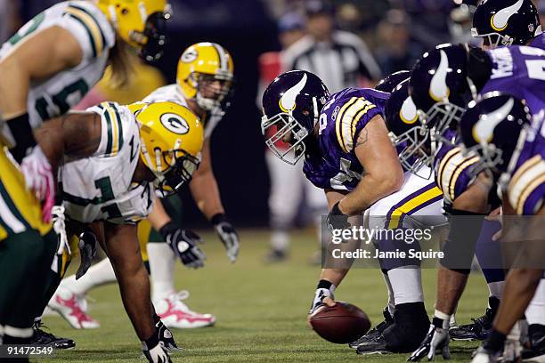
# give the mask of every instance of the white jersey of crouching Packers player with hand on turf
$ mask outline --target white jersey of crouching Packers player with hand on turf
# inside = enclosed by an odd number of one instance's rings
[[[102,102],[87,111],[101,115],[102,137],[91,157],[62,165],[63,206],[79,222],[138,222],[155,199],[151,182],[134,183],[140,158],[140,128],[125,106]]]

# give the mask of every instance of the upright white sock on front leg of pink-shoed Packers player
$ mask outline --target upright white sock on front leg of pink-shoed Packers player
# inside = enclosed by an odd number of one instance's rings
[[[166,243],[148,243],[152,298],[157,302],[175,293],[174,270],[176,256]]]

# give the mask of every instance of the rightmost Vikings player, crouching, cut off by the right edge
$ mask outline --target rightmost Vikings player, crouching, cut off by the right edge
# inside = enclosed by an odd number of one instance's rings
[[[516,233],[517,239],[503,240],[504,249],[511,253],[513,248],[517,249],[517,254],[506,256],[506,259],[514,260],[515,255],[523,255],[524,260],[522,263],[518,261],[509,270],[492,333],[476,351],[473,362],[496,362],[513,358],[508,355],[509,351],[504,351],[506,336],[525,314],[543,276],[543,115],[545,109],[541,109],[531,124],[532,117],[525,103],[507,93],[494,92],[484,94],[482,100],[473,103],[460,121],[462,141],[469,152],[479,157],[479,169],[494,174],[499,180],[498,192],[503,200],[504,215],[536,216],[529,222],[523,218],[516,222],[504,222],[504,236],[514,230],[513,223],[518,224],[517,228],[524,229],[522,233]],[[513,243],[516,246],[508,246]],[[541,304],[541,315],[542,309]],[[525,351],[523,359],[541,361],[545,358],[542,333],[542,330],[530,332],[532,349]]]

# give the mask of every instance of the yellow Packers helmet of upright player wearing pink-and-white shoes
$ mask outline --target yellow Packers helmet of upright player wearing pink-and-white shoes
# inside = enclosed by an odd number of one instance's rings
[[[183,51],[176,82],[186,100],[195,99],[201,109],[224,108],[232,89],[232,56],[216,43],[197,43]]]

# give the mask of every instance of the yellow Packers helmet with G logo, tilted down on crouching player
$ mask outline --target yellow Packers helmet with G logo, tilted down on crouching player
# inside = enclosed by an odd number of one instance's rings
[[[190,109],[174,102],[129,107],[140,125],[140,157],[155,174],[156,189],[166,196],[191,181],[199,167],[202,124]]]

